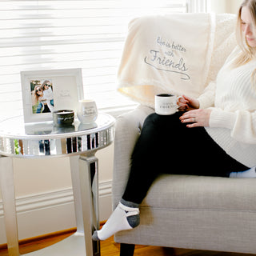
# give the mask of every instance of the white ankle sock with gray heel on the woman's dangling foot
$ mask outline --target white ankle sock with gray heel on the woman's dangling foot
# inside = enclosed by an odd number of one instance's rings
[[[138,224],[138,208],[128,207],[119,202],[102,229],[94,231],[93,240],[105,240],[118,231],[131,230]]]

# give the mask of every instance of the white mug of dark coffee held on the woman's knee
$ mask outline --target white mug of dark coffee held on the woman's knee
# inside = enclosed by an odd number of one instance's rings
[[[174,114],[178,110],[178,98],[174,94],[157,94],[154,96],[154,110],[156,114]]]

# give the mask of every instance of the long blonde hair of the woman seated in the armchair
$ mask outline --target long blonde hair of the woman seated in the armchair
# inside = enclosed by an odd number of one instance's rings
[[[237,30],[236,30],[236,37],[238,41],[238,45],[242,49],[242,53],[238,55],[238,58],[234,61],[234,67],[242,66],[253,58],[256,58],[256,47],[251,47],[248,45],[246,41],[245,34],[242,32],[242,7],[247,6],[250,10],[251,17],[253,18],[253,29],[254,34],[256,35],[256,0],[245,0],[242,2],[239,10],[238,10],[238,20],[237,20]],[[256,89],[256,69],[251,74],[251,83]]]

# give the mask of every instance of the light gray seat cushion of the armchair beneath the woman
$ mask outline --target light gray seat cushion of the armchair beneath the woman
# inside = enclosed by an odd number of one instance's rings
[[[256,210],[254,178],[159,176],[143,206],[162,209]]]

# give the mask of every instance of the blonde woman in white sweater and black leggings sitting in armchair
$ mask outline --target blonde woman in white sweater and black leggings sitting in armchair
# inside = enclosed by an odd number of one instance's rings
[[[158,174],[256,178],[255,27],[256,0],[246,0],[238,13],[239,46],[218,73],[214,107],[200,109],[198,99],[183,95],[183,111],[146,118],[121,202],[94,240],[138,226],[138,206]]]

